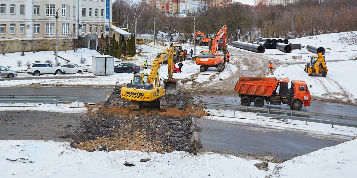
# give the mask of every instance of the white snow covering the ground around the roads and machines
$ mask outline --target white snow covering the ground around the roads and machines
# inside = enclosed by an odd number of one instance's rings
[[[356,78],[352,72],[357,67],[356,61],[350,57],[357,53],[357,32],[332,33],[313,37],[292,39],[291,43],[301,43],[302,46],[325,47],[325,57],[327,60],[327,77],[308,76],[303,71],[303,66],[309,61],[311,52],[306,48],[293,50],[292,53],[283,53],[277,49],[266,49],[262,55],[284,62],[275,69],[272,75],[267,77],[288,77],[289,79],[304,80],[308,85],[312,85],[310,91],[312,98],[336,99],[346,102],[357,103]],[[327,43],[328,48],[327,49]],[[158,53],[164,47],[156,45],[139,45],[142,52]],[[190,51],[193,46],[184,44],[183,48]],[[228,46],[229,49],[234,47]],[[198,54],[205,46],[197,46]],[[234,48],[236,50],[241,50]],[[241,50],[246,52],[245,50]],[[143,57],[137,57],[140,65],[143,60],[154,61],[155,54],[143,53]],[[252,55],[260,55],[251,53]],[[80,64],[80,58],[86,58],[84,66],[90,67],[91,56],[99,55],[95,50],[81,49],[78,53],[67,51],[60,52],[59,56],[69,59],[71,62]],[[190,54],[188,54],[190,55]],[[239,55],[231,53],[231,56]],[[302,56],[300,59],[292,59],[292,56]],[[252,56],[253,57],[253,56]],[[28,52],[25,56],[20,53],[9,53],[0,56],[1,66],[12,66],[13,70],[26,70],[27,62],[34,62],[41,59],[44,61],[50,58],[54,61],[53,52]],[[22,66],[17,67],[17,60],[22,61]],[[40,61],[41,61],[40,60]],[[62,60],[62,59],[59,59]],[[329,62],[331,61],[331,62]],[[333,62],[337,61],[337,62]],[[64,60],[60,63],[65,63]],[[151,63],[151,60],[150,60]],[[244,66],[242,66],[244,67]],[[217,77],[212,83],[220,79],[231,77],[231,74],[242,68],[233,64],[228,64],[223,72],[217,74],[215,70],[208,70],[195,76],[197,81],[206,81],[212,74]],[[149,69],[144,73],[149,73]],[[190,78],[197,74],[199,66],[191,61],[183,62],[182,73],[174,73],[174,78]],[[160,77],[166,76],[167,66],[160,68]],[[27,74],[19,74],[25,76]],[[31,79],[31,80],[1,80],[1,87],[26,86],[31,84],[50,84],[63,86],[96,85],[114,86],[130,82],[133,74],[115,73],[112,76],[97,76],[93,74],[75,74],[93,78],[78,79]],[[28,75],[29,77],[32,77]],[[44,75],[54,77],[54,75]],[[40,77],[44,77],[40,76]],[[73,76],[73,75],[71,75]],[[193,83],[187,82],[186,84]],[[210,79],[211,80],[211,79]],[[41,110],[55,112],[81,112],[87,111],[84,105],[72,103],[71,105],[59,104],[54,107],[52,104],[2,104],[1,110]],[[214,110],[215,115],[230,116],[231,111]],[[237,112],[236,112],[237,114]],[[259,117],[253,113],[240,113],[240,118],[230,118],[221,116],[206,116],[206,119],[214,119],[225,122],[244,122],[248,124],[264,125],[275,129],[288,129],[304,131],[311,136],[321,138],[335,138],[350,140],[357,135],[356,128],[334,126],[325,124],[305,125],[301,121],[282,122],[279,120]],[[234,116],[233,116],[234,117]],[[1,118],[0,118],[1,123]],[[113,151],[113,152],[87,152],[71,148],[69,143],[54,141],[31,141],[31,140],[0,140],[0,177],[97,177],[97,176],[118,176],[121,177],[259,177],[275,175],[284,178],[290,177],[356,177],[357,141],[351,140],[333,147],[322,148],[320,150],[298,156],[281,164],[268,163],[269,171],[261,171],[254,166],[261,163],[258,160],[246,160],[232,155],[219,155],[216,153],[201,152],[198,155],[191,155],[187,152],[175,151],[172,153],[159,154],[152,152],[138,151]],[[140,162],[142,158],[150,158],[148,162]],[[133,167],[126,167],[125,163],[135,164]],[[274,169],[277,166],[281,167]],[[20,169],[19,169],[20,168]],[[302,171],[303,170],[303,171]],[[275,173],[275,174],[274,174]]]

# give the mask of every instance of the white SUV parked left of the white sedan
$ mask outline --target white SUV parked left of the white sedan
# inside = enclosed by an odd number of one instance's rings
[[[55,67],[49,63],[32,63],[27,67],[27,73],[35,76],[41,74],[63,74],[64,70],[62,67]]]

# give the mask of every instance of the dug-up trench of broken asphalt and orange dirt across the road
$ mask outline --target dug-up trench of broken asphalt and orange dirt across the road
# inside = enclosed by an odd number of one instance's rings
[[[159,103],[140,104],[139,111],[132,111],[131,102],[118,93],[114,92],[98,109],[87,105],[91,112],[74,133],[72,147],[87,151],[197,152],[199,146],[192,139],[191,119],[205,112],[190,104],[192,97],[166,95],[165,112],[159,111]]]

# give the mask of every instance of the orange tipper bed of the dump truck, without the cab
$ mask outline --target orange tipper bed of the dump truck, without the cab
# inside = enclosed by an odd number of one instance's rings
[[[289,79],[273,77],[240,77],[234,90],[242,95],[270,97],[279,83],[289,83]]]

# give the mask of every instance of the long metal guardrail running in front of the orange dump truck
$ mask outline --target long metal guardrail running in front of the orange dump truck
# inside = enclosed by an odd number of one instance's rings
[[[295,119],[295,120],[299,120],[299,119],[303,118],[303,119],[305,119],[304,121],[309,121],[309,122],[311,122],[310,120],[315,120],[315,121],[318,121],[319,123],[323,123],[323,122],[321,122],[322,121],[321,119],[309,118],[309,117],[300,117],[300,116],[302,115],[302,116],[315,116],[315,117],[331,118],[333,123],[337,123],[338,122],[340,124],[347,124],[347,123],[341,122],[342,120],[356,121],[357,122],[357,118],[356,117],[333,115],[333,114],[324,114],[324,113],[318,113],[318,112],[287,110],[287,109],[277,109],[277,108],[262,108],[262,107],[257,107],[257,106],[242,106],[242,105],[222,104],[222,103],[203,103],[203,106],[219,106],[219,107],[223,107],[225,110],[227,110],[227,108],[235,108],[235,109],[245,110],[246,112],[248,110],[253,110],[253,111],[257,111],[257,112],[265,111],[265,112],[268,112],[267,114],[270,114],[271,117],[275,117],[275,116],[280,116],[281,117],[281,116],[283,116],[283,117],[288,117],[288,119],[292,119],[292,120],[294,120],[294,118],[298,118],[298,119]],[[279,113],[279,114],[271,114],[270,112],[275,112],[275,113]],[[265,114],[265,113],[259,113],[259,114]],[[300,116],[297,116],[297,115],[300,115]],[[338,120],[338,121],[336,121],[336,120]],[[323,120],[323,121],[326,121],[328,124],[332,124],[332,122],[329,121],[329,120]],[[325,124],[327,124],[327,123],[325,123]],[[332,124],[332,125],[338,125],[338,124]],[[353,124],[348,124],[348,125],[351,126]],[[346,126],[346,125],[343,125],[343,126]],[[351,127],[353,127],[353,126],[351,126]]]

